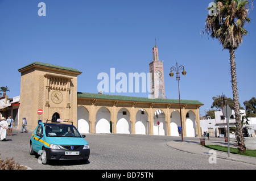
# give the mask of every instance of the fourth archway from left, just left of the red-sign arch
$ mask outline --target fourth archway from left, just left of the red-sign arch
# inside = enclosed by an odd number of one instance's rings
[[[149,123],[148,123],[147,112],[140,109],[136,114],[135,123],[135,134],[148,134],[149,133]]]

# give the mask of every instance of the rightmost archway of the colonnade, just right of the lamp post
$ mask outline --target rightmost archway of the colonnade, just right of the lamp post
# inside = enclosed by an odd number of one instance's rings
[[[196,116],[193,111],[188,111],[186,115],[187,137],[196,137]]]

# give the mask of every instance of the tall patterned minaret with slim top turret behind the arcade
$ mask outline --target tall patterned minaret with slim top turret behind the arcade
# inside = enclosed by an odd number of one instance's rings
[[[150,73],[151,79],[151,98],[165,99],[166,94],[164,91],[164,71],[163,71],[163,61],[159,61],[158,58],[158,47],[155,46],[153,49],[153,61],[150,62]]]

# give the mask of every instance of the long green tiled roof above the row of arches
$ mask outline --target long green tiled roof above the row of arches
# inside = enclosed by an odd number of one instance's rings
[[[94,94],[86,92],[77,92],[77,98],[93,98],[93,99],[108,99],[108,100],[126,100],[132,102],[150,102],[150,103],[174,103],[179,104],[179,99],[149,99],[133,96],[109,95],[109,94]],[[180,100],[181,104],[197,104],[203,106],[199,100]]]

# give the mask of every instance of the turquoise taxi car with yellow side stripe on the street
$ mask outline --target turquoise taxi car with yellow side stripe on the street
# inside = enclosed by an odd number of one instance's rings
[[[51,160],[75,160],[87,162],[90,155],[88,142],[72,122],[39,123],[30,138],[30,154],[39,154],[43,164]]]

